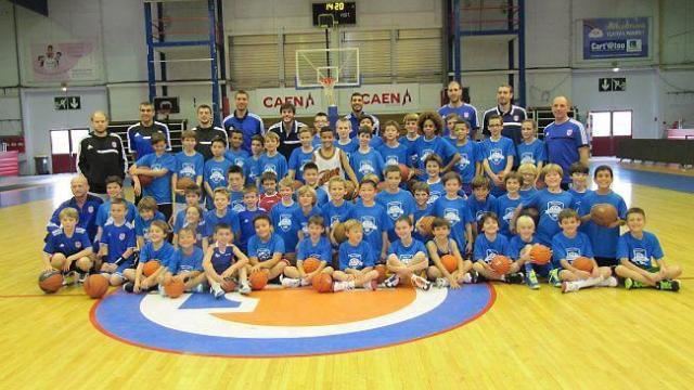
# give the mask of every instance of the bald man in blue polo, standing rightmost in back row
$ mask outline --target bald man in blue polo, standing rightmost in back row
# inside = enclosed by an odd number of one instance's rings
[[[581,161],[588,166],[590,144],[583,125],[568,117],[570,102],[566,96],[556,96],[552,101],[554,121],[544,128],[544,144],[550,164],[557,164],[564,170],[562,188],[568,190],[571,178],[568,168]]]

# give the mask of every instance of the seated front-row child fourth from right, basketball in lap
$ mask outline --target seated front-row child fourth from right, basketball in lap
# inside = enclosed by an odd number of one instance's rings
[[[512,284],[523,283],[524,275],[518,272],[522,265],[518,261],[512,262],[509,271],[503,274],[491,266],[494,257],[507,257],[511,253],[509,239],[499,234],[499,218],[497,214],[486,212],[481,217],[479,225],[483,234],[479,234],[475,239],[473,270],[489,281],[502,281]]]

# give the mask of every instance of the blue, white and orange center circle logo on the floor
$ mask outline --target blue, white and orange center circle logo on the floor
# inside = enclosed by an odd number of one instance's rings
[[[266,289],[215,299],[117,291],[97,302],[91,321],[118,340],[158,351],[215,356],[297,356],[382,348],[437,335],[483,315],[496,295],[487,284],[461,289],[394,288],[318,294]]]

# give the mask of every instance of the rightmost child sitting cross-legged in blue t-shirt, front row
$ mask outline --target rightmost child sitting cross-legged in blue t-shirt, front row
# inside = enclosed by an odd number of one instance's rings
[[[619,265],[615,273],[625,278],[627,289],[653,287],[659,290],[678,291],[682,274],[679,265],[667,265],[658,237],[643,227],[646,214],[643,209],[632,207],[627,211],[629,231],[617,242]],[[657,265],[653,265],[653,261]]]

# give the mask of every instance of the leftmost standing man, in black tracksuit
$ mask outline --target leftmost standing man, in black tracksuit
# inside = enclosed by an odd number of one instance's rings
[[[91,115],[93,131],[79,142],[77,150],[77,171],[89,182],[93,194],[106,199],[106,178],[126,178],[128,159],[123,150],[123,141],[116,134],[108,134],[108,117],[98,110]]]

